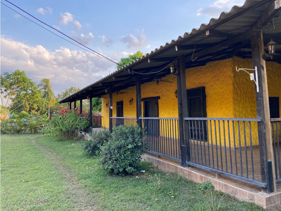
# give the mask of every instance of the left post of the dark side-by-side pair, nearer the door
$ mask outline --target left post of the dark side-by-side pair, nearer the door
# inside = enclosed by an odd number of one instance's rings
[[[179,113],[179,142],[180,145],[183,146],[184,145],[184,127],[183,127],[183,121],[184,121],[184,117],[183,117],[183,100],[182,97],[183,95],[182,93],[182,86],[181,86],[181,71],[180,71],[180,64],[179,62],[177,62],[177,71],[178,71],[178,75],[177,75],[177,88],[178,88],[178,113]],[[185,158],[183,157],[183,147],[180,147],[181,149],[181,166],[186,167],[186,161]]]

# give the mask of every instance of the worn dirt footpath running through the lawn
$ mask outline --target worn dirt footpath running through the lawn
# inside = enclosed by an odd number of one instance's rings
[[[47,155],[47,157],[55,164],[57,165],[60,174],[62,175],[63,179],[67,181],[68,189],[69,189],[69,195],[71,197],[68,198],[72,204],[78,204],[79,209],[83,211],[90,211],[90,210],[99,210],[96,206],[95,200],[91,197],[90,192],[86,191],[82,185],[79,184],[79,181],[75,178],[75,175],[72,174],[67,167],[63,165],[63,160],[55,154],[53,151],[45,147],[44,145],[41,145],[37,142],[36,138],[31,138],[30,143],[35,145],[42,151],[44,154]],[[45,203],[42,200],[38,200],[38,204]]]

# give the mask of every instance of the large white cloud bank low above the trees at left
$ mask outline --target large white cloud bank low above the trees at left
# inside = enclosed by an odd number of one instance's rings
[[[70,85],[85,87],[116,67],[89,52],[71,51],[65,47],[52,52],[41,45],[26,45],[5,36],[1,36],[0,56],[1,72],[24,70],[36,82],[51,78],[56,93]]]

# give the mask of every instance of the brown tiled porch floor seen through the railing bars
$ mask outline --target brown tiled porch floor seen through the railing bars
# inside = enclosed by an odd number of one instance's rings
[[[180,159],[180,144],[178,139],[166,137],[148,136],[147,141],[151,143],[151,151],[166,154]],[[222,170],[238,176],[261,181],[259,147],[230,149],[228,147],[220,149],[220,146],[212,145],[202,141],[191,141],[191,162]],[[276,145],[277,148],[277,145]],[[281,151],[281,144],[280,144]],[[247,156],[246,156],[247,154]],[[230,159],[231,158],[231,159]],[[246,159],[247,158],[247,159]],[[279,175],[279,168],[277,169]]]

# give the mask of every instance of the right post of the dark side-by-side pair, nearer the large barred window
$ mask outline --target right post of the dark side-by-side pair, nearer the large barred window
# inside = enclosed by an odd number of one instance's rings
[[[181,72],[181,99],[183,104],[183,118],[188,117],[188,104],[187,104],[187,89],[186,89],[186,78],[185,78],[185,57],[180,57],[180,72]],[[189,142],[189,128],[188,122],[183,119],[183,131],[184,131],[184,145],[185,145],[185,160],[190,161],[190,142]]]

